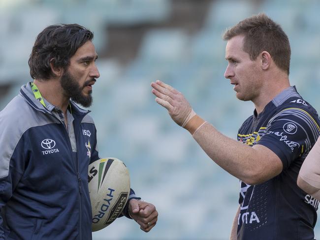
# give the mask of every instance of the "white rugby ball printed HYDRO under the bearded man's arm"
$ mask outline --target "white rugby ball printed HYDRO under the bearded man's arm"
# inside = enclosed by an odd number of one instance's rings
[[[126,165],[117,158],[102,158],[89,165],[89,194],[92,231],[111,224],[127,204],[130,176]]]

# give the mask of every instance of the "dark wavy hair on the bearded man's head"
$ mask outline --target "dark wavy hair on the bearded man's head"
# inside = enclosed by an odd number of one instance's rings
[[[78,48],[93,37],[93,32],[78,24],[56,24],[45,28],[36,37],[28,61],[32,79],[55,77],[50,63],[66,70]]]

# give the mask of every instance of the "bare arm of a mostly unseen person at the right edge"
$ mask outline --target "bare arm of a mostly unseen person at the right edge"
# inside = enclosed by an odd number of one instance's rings
[[[320,138],[304,160],[297,184],[303,191],[320,201]]]

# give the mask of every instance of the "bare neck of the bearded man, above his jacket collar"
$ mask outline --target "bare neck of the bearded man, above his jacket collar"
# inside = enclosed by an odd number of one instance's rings
[[[60,108],[66,116],[66,109],[70,98],[64,95],[59,79],[39,80],[34,79],[33,83],[38,87],[41,96],[49,103]]]

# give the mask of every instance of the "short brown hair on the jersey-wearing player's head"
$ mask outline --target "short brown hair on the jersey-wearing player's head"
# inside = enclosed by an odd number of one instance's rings
[[[262,51],[270,53],[278,68],[289,75],[290,43],[287,34],[281,26],[264,13],[246,18],[224,33],[224,40],[230,40],[237,35],[244,35],[243,50],[256,60]]]

